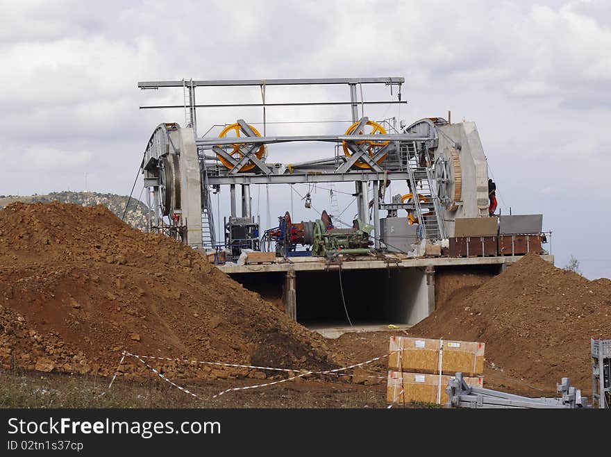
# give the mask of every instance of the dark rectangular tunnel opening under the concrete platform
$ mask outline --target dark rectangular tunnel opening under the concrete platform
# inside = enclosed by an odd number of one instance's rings
[[[285,310],[285,272],[233,274],[245,288]],[[339,269],[296,272],[296,320],[310,329],[411,325],[434,309],[434,281],[426,268]],[[343,290],[343,299],[342,299]]]

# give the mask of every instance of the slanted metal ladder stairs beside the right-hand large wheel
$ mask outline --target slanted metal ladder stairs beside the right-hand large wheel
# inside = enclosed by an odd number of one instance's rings
[[[435,179],[430,167],[430,156],[425,149],[425,166],[421,166],[418,160],[416,142],[409,141],[401,144],[401,160],[405,160],[408,168],[410,188],[412,190],[412,200],[416,210],[416,215],[422,228],[422,237],[428,240],[441,240],[445,238],[445,230],[441,215],[439,197],[435,188]],[[433,214],[423,213],[418,194],[423,195],[433,204]],[[424,203],[428,208],[428,203]]]

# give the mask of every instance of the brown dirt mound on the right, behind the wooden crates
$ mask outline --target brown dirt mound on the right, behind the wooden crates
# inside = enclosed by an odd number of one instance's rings
[[[589,390],[589,338],[611,338],[611,282],[528,255],[435,310],[410,335],[482,341],[491,367],[544,388],[568,376]]]

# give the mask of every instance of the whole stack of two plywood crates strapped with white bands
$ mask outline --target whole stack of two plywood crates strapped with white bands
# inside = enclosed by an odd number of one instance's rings
[[[445,404],[446,386],[457,372],[469,385],[483,386],[484,349],[480,342],[391,337],[387,400]]]

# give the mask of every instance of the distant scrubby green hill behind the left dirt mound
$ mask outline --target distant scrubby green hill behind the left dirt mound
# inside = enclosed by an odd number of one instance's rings
[[[36,203],[37,201],[61,201],[76,203],[82,206],[95,206],[99,203],[108,207],[117,217],[121,218],[128,201],[128,196],[117,194],[99,194],[97,192],[51,192],[47,195],[0,195],[0,209],[13,201]],[[147,206],[142,201],[132,197],[125,215],[125,222],[142,231],[147,229]]]

